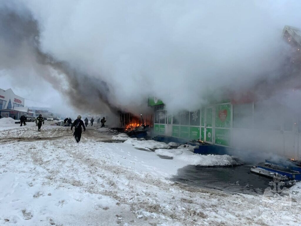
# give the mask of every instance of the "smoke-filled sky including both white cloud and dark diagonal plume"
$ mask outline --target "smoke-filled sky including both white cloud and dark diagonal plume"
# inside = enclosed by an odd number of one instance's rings
[[[208,96],[242,93],[281,76],[288,49],[282,29],[301,27],[300,6],[1,1],[0,87],[60,111],[138,113],[148,96],[170,112],[195,110]]]

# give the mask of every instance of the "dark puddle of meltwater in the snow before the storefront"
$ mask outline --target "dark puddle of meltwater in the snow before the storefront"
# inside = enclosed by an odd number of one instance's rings
[[[236,167],[188,165],[179,169],[178,175],[173,177],[172,180],[194,187],[211,188],[226,192],[263,194],[264,190],[270,187],[268,183],[272,180],[251,173],[251,167],[252,165]]]

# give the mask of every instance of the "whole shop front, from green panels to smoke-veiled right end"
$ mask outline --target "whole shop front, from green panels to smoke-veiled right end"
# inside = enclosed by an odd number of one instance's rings
[[[162,101],[154,108],[154,134],[245,150],[273,152],[301,160],[301,114],[265,103],[213,103],[195,111],[170,115]]]

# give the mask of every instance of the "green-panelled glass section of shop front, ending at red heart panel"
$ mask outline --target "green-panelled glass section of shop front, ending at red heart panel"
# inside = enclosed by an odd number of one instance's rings
[[[150,104],[152,102],[149,102]],[[182,111],[178,115],[169,115],[163,106],[157,107],[154,113],[154,133],[231,146],[231,108],[231,103],[228,102],[209,105],[196,111]]]

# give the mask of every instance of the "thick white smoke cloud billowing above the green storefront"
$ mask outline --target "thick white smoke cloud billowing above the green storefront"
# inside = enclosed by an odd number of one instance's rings
[[[21,2],[38,22],[41,51],[86,74],[68,77],[83,84],[79,95],[104,81],[117,108],[157,96],[168,110],[195,109],[273,80],[286,48],[282,29],[301,21],[298,1]]]

